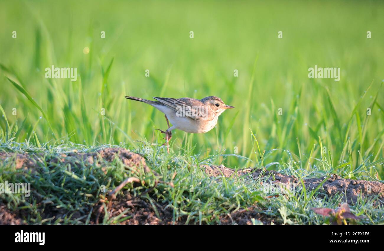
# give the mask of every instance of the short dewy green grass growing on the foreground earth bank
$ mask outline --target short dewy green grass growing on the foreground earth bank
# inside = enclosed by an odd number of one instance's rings
[[[155,180],[172,182],[174,188],[166,183],[159,183],[150,194],[145,194],[142,198],[150,201],[152,205],[163,204],[164,208],[172,211],[173,221],[186,224],[219,224],[219,216],[249,206],[257,206],[256,210],[274,219],[275,224],[328,224],[326,217],[318,216],[310,208],[336,208],[344,201],[342,194],[320,199],[313,196],[314,192],[305,193],[303,189],[298,190],[294,196],[268,198],[270,194],[264,193],[262,189],[261,182],[265,182],[263,178],[256,180],[249,180],[245,176],[210,178],[198,167],[199,164],[215,163],[217,156],[197,162],[190,154],[168,155],[164,147],[159,148],[149,143],[141,143],[137,148],[125,144],[120,146],[144,156],[147,165],[158,175],[144,175],[143,171],[132,174],[130,170],[124,168],[119,159],[115,159],[112,163],[102,162],[101,165],[90,165],[87,161],[79,161],[70,156],[65,157],[65,162],[58,162],[57,165],[48,162],[63,158],[61,157],[63,153],[68,154],[74,150],[96,151],[104,146],[87,147],[65,141],[57,146],[43,145],[41,148],[36,148],[24,143],[3,143],[0,145],[0,151],[28,151],[30,155],[40,156],[42,161],[37,164],[35,172],[16,170],[12,159],[4,161],[0,181],[30,182],[33,190],[30,197],[24,194],[0,194],[0,198],[12,211],[22,210],[25,217],[23,219],[29,224],[84,224],[89,220],[94,221],[95,216],[92,213],[96,210],[95,205],[100,199],[105,198],[101,186],[104,185],[107,191],[112,191],[129,176],[145,181],[145,184],[134,187],[128,184],[124,187],[123,191],[129,190],[133,196],[153,187]],[[285,173],[293,174],[295,173],[293,161],[289,163]],[[308,173],[303,177],[319,175],[320,173]],[[49,212],[54,212],[52,208],[62,211],[63,215],[50,216]],[[377,203],[374,197],[358,198],[356,203],[351,205],[351,212],[363,216],[358,224],[383,224],[383,210],[382,205]],[[70,219],[76,212],[80,216]],[[111,218],[105,217],[100,223],[119,223],[126,213],[124,211]]]

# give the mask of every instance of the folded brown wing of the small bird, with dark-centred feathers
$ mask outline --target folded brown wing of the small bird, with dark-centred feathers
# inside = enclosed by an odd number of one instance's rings
[[[187,116],[194,120],[209,120],[213,115],[208,106],[194,98],[153,98],[179,112],[181,116]]]

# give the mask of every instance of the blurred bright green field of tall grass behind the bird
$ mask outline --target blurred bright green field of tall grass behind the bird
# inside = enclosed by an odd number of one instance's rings
[[[381,1],[0,5],[2,142],[162,143],[154,128],[166,129],[164,115],[124,95],[215,95],[235,109],[208,133],[174,131],[174,151],[190,150],[200,159],[219,153],[218,162],[232,167],[253,164],[225,154],[256,165],[277,161],[280,168],[292,157],[296,168],[307,170],[318,158],[323,171],[340,168],[350,177],[382,179],[382,161],[361,173],[384,155]],[[51,65],[77,67],[78,80],[46,79]],[[341,80],[308,78],[314,65],[341,68]]]

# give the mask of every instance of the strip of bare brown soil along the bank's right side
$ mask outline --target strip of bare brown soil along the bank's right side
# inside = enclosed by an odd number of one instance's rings
[[[253,179],[263,178],[270,180],[272,182],[281,182],[281,183],[296,183],[300,187],[300,181],[291,175],[283,175],[278,173],[277,171],[265,171],[262,173],[262,170],[251,170],[251,169],[243,169],[238,170],[235,173],[235,170],[227,168],[223,165],[221,166],[208,166],[202,165],[202,168],[205,169],[205,173],[209,176],[220,176],[223,175],[225,177],[238,177],[238,176],[250,176]],[[306,189],[313,190],[315,189],[322,181],[322,178],[308,178],[304,179],[304,184]],[[366,180],[351,180],[344,179],[338,175],[331,175],[331,177],[326,180],[319,189],[319,192],[325,193],[328,196],[333,196],[336,194],[343,194],[346,202],[348,204],[356,202],[359,194],[362,195],[362,198],[366,198],[369,196],[378,196],[381,200],[384,199],[384,184],[377,181],[366,181]],[[318,196],[321,197],[321,194]]]

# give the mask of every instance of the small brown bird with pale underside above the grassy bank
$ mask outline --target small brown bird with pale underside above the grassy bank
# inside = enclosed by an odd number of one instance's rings
[[[187,133],[206,133],[215,127],[218,117],[227,109],[235,108],[225,103],[217,96],[208,96],[202,99],[195,98],[160,98],[156,101],[125,96],[126,99],[136,100],[153,106],[164,113],[168,129],[159,130],[166,135],[167,152],[169,153],[169,140],[172,130],[179,129]],[[169,122],[172,126],[169,125]]]

